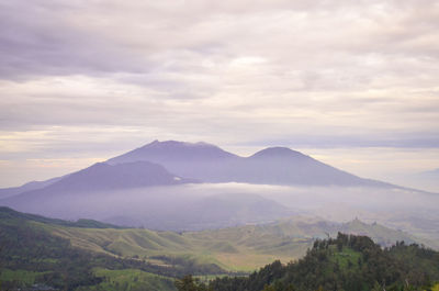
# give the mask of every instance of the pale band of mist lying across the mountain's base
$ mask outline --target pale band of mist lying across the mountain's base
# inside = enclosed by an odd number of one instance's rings
[[[439,233],[439,195],[401,188],[189,183],[27,195],[2,200],[19,211],[66,220],[94,219],[160,231],[267,223],[296,215],[334,222],[356,217],[421,236]]]

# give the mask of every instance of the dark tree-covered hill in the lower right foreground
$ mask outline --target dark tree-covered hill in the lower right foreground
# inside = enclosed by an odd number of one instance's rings
[[[382,249],[367,236],[339,233],[336,239],[316,240],[299,261],[267,265],[249,277],[223,277],[199,284],[187,276],[179,290],[436,290],[439,253],[398,243]]]

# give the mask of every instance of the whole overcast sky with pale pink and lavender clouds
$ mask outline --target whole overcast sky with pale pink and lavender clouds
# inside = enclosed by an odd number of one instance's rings
[[[439,2],[0,0],[0,187],[156,138],[439,168]]]

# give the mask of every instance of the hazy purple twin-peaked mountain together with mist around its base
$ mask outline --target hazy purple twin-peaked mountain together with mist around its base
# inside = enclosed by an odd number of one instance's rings
[[[439,195],[363,179],[283,147],[239,157],[205,143],[154,142],[31,188],[1,205],[160,231],[359,217],[439,239]]]

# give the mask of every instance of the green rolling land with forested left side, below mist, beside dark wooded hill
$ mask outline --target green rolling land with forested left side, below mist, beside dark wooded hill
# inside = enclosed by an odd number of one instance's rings
[[[368,234],[382,245],[416,240],[358,220],[335,224],[295,217],[173,233],[52,220],[0,208],[0,290],[33,283],[63,290],[175,290],[175,278],[187,273],[239,275],[277,259],[297,259],[316,238],[338,231]]]

